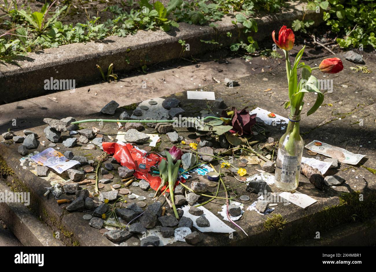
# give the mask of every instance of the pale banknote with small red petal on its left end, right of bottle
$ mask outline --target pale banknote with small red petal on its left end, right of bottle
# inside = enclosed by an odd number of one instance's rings
[[[319,153],[321,155],[338,159],[339,162],[356,165],[358,162],[365,157],[362,154],[354,154],[346,149],[340,147],[334,147],[333,145],[325,144],[320,141],[312,141],[305,145],[311,151]]]

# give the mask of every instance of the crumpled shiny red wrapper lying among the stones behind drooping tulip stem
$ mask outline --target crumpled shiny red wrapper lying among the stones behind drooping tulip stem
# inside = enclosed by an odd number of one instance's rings
[[[143,179],[149,182],[150,187],[153,190],[157,190],[161,184],[160,177],[153,177],[150,173],[150,168],[155,166],[158,168],[159,163],[164,160],[163,157],[158,156],[155,153],[147,154],[146,151],[134,147],[133,145],[119,144],[114,142],[103,142],[102,143],[103,151],[107,154],[114,154],[113,157],[120,163],[121,166],[126,166],[129,169],[134,169],[135,172],[133,175],[138,179]],[[181,181],[184,183],[185,179],[182,177]],[[176,181],[175,186],[179,184],[179,181]],[[174,187],[175,187],[174,186]],[[164,191],[166,186],[163,186],[161,192]],[[166,192],[169,192],[167,189]]]

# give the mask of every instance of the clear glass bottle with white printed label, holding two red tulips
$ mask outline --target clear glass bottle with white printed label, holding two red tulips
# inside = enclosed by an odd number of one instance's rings
[[[293,192],[299,185],[304,142],[299,133],[300,115],[290,114],[288,119],[286,133],[279,139],[274,185]]]

